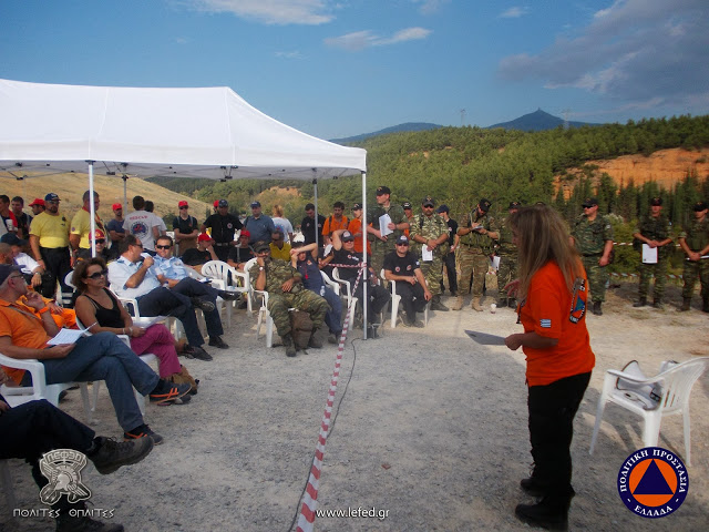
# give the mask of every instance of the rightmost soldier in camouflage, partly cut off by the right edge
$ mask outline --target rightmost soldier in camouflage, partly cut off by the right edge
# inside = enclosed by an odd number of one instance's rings
[[[680,311],[689,310],[691,296],[695,293],[695,283],[699,277],[701,285],[701,309],[709,313],[709,217],[707,216],[707,203],[697,202],[693,207],[695,219],[679,234],[679,245],[687,254],[682,278],[682,306]]]

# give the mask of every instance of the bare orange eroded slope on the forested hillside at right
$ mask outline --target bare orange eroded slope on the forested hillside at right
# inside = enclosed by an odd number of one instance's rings
[[[709,176],[709,147],[700,151],[688,151],[678,149],[660,150],[649,157],[645,155],[623,155],[607,161],[588,161],[588,165],[596,165],[594,180],[600,178],[606,173],[620,186],[625,186],[630,180],[635,185],[641,185],[647,181],[654,181],[662,188],[671,188],[675,183],[682,181],[687,172],[696,173],[699,180]],[[555,177],[555,185],[567,184],[566,194],[571,195],[577,178],[569,180],[569,176],[578,177],[583,174],[580,168],[571,168],[567,175]]]

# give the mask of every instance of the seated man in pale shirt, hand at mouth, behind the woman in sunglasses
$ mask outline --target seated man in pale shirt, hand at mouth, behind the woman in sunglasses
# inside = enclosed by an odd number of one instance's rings
[[[214,310],[214,305],[191,299],[162,286],[152,268],[153,264],[153,257],[143,254],[141,241],[134,235],[127,235],[123,242],[123,253],[117,260],[109,264],[111,289],[119,297],[135,298],[141,316],[175,316],[182,321],[189,342],[183,352],[188,358],[212,360],[212,356],[202,348],[204,338],[197,327],[193,305],[207,313]]]

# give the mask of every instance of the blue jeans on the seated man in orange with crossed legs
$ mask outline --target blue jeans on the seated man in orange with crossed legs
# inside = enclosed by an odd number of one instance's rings
[[[48,385],[105,380],[119,424],[125,431],[143,424],[133,388],[146,396],[160,380],[113,332],[82,337],[66,357],[42,360],[42,364]],[[29,372],[22,381],[29,385],[25,379],[31,381]]]

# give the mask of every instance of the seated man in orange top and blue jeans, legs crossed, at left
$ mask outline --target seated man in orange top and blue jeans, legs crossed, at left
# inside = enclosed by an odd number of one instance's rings
[[[27,306],[14,301],[27,296]],[[35,317],[29,308],[39,311]],[[20,268],[0,265],[0,352],[10,358],[38,359],[44,365],[48,383],[105,380],[124,438],[163,438],[145,424],[133,387],[151,401],[167,402],[189,392],[189,385],[162,380],[121,339],[111,332],[81,337],[75,344],[48,347],[60,329],[37,293],[29,293]],[[4,368],[16,383],[30,386],[31,375]]]

